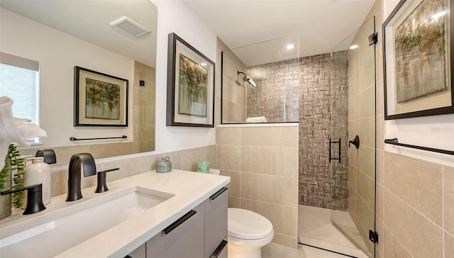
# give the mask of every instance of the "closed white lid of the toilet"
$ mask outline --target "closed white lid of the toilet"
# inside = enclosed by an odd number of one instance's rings
[[[270,220],[253,211],[228,208],[228,235],[240,239],[262,239],[272,235]]]

